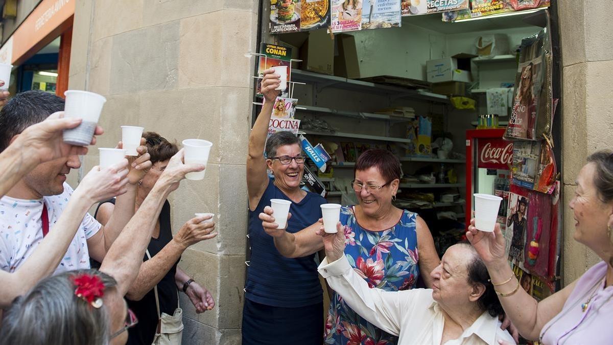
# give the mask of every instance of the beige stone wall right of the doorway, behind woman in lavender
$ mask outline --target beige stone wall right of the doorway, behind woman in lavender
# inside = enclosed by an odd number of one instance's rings
[[[574,241],[568,203],[585,158],[613,142],[613,35],[604,0],[558,1],[563,80],[563,247],[565,285],[600,259]]]

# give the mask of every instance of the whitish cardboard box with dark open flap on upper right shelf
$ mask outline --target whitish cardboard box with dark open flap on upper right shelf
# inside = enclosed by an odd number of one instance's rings
[[[466,82],[470,83],[470,59],[476,55],[460,53],[451,58],[428,60],[426,62],[427,80],[431,83]]]

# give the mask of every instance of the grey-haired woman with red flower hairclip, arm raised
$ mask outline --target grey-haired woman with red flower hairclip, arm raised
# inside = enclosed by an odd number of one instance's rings
[[[204,168],[185,165],[183,150],[174,155],[100,270],[61,273],[16,298],[4,316],[0,345],[125,344],[126,330],[137,320],[123,297],[139,273],[159,212],[186,173]]]

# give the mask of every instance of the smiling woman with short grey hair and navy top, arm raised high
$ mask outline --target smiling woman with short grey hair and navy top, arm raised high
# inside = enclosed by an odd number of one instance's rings
[[[258,215],[271,199],[291,201],[287,231],[296,232],[321,218],[326,200],[300,188],[305,156],[300,141],[281,131],[267,140],[268,122],[279,91],[280,76],[264,71],[264,105],[249,136],[247,190],[251,259],[245,283],[243,344],[319,344],[324,333],[322,289],[314,254],[286,258],[266,235]],[[264,158],[264,147],[266,157]],[[274,178],[269,179],[267,169]],[[271,317],[274,316],[274,317]]]

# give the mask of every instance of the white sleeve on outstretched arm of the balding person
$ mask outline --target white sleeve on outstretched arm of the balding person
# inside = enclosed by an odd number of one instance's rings
[[[411,290],[387,292],[370,289],[345,256],[333,263],[324,258],[318,271],[357,314],[387,333],[400,335],[402,316],[413,309],[414,294]]]

